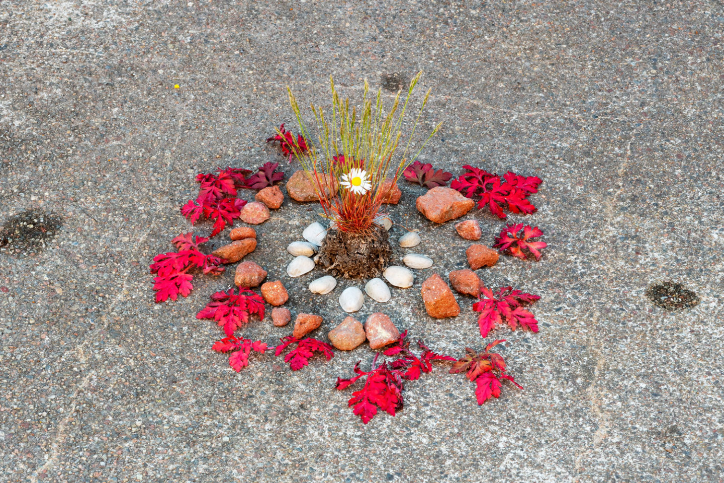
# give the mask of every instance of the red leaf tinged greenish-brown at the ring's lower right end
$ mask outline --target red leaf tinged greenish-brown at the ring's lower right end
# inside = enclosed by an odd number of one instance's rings
[[[466,356],[452,364],[452,369],[450,369],[451,374],[466,372],[466,377],[476,383],[475,395],[479,405],[490,398],[500,397],[503,380],[508,380],[519,389],[523,389],[515,382],[513,376],[506,374],[505,361],[502,356],[490,352],[490,349],[504,342],[505,340],[495,340],[489,343],[485,351],[481,353],[466,348]]]

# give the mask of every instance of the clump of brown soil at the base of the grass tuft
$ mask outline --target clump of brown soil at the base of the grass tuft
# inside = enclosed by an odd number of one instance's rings
[[[374,278],[392,259],[392,248],[384,228],[372,225],[369,234],[329,230],[319,248],[319,265],[336,276]]]

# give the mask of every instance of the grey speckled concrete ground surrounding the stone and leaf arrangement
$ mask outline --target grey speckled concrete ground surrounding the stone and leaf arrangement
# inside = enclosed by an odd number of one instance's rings
[[[0,0],[0,481],[724,481],[723,29],[719,0]],[[541,295],[541,329],[488,337],[508,339],[524,390],[479,407],[442,364],[364,426],[334,382],[369,367],[366,345],[294,373],[253,356],[237,374],[195,319],[233,270],[156,305],[148,264],[191,230],[178,208],[197,172],[297,169],[264,143],[294,125],[286,85],[306,105],[327,101],[330,74],[353,97],[366,78],[390,100],[418,70],[424,127],[443,122],[426,161],[544,180],[537,213],[510,216],[544,230],[542,261],[480,271]],[[400,185],[392,218],[435,264],[358,318],[480,349],[472,299],[434,320],[419,296],[468,243]],[[287,198],[248,258],[293,312],[324,316],[324,339],[353,283],[312,296],[317,272],[284,271],[318,211]],[[468,218],[485,243],[504,225]],[[665,280],[701,303],[655,306],[644,292]],[[290,332],[267,318],[243,333]]]

